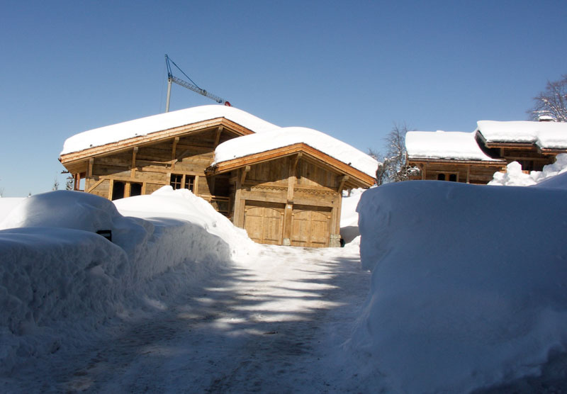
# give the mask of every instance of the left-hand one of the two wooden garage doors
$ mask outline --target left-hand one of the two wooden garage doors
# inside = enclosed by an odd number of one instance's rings
[[[261,244],[281,244],[285,204],[247,201],[244,228],[248,236]]]

